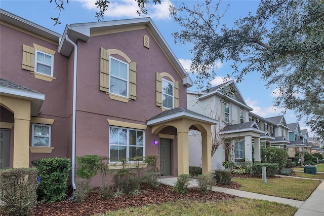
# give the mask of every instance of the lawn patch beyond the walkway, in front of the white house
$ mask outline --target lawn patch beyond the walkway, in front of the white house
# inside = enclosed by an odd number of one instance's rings
[[[262,183],[261,178],[232,178],[240,184],[240,191],[248,191],[275,197],[305,201],[320,184],[320,181],[302,178],[268,178]]]

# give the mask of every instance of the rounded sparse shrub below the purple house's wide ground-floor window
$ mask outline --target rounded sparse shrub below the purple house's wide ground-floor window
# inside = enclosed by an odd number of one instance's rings
[[[113,175],[113,182],[119,191],[126,195],[131,195],[140,188],[140,178],[129,171],[117,172]]]

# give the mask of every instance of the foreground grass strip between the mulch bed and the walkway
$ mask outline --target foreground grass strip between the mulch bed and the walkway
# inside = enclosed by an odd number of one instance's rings
[[[109,211],[101,215],[294,215],[297,207],[266,200],[238,198],[221,201],[177,200],[143,207]]]

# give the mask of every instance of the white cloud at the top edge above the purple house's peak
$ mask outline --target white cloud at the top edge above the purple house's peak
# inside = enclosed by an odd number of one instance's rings
[[[96,10],[97,6],[95,5],[96,0],[76,0],[79,1],[84,8],[89,10]],[[105,12],[105,17],[113,18],[139,18],[136,11],[138,10],[138,4],[134,0],[113,0],[110,1],[108,11]],[[169,2],[161,1],[161,4],[147,4],[147,15],[154,19],[169,19]]]

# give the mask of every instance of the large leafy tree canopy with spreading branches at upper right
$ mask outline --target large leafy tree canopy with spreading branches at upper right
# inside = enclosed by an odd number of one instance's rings
[[[268,88],[276,87],[274,105],[294,110],[324,136],[324,0],[262,0],[233,27],[221,23],[220,4],[206,0],[170,9],[182,27],[175,42],[193,45],[190,69],[198,89],[210,88],[206,81],[216,77],[217,61],[230,61],[229,78],[240,82],[259,73]]]

